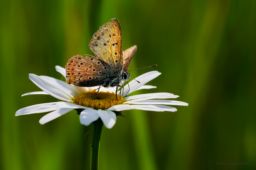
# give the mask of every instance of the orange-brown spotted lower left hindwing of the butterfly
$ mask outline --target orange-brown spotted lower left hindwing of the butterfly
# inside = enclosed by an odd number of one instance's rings
[[[110,66],[94,56],[73,56],[66,65],[68,84],[81,87],[99,86],[104,83],[104,77],[111,75]]]

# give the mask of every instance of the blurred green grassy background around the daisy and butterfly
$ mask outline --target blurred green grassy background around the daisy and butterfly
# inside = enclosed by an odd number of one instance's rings
[[[65,80],[65,67],[112,18],[123,49],[137,45],[130,69],[157,64],[149,82],[189,103],[177,112],[123,111],[103,128],[100,170],[256,169],[256,1],[0,1],[0,169],[89,169],[90,147],[72,111],[45,125],[23,107],[58,101],[28,73]],[[90,139],[90,135],[88,135]],[[216,163],[240,165],[216,165]],[[248,162],[249,165],[241,165]]]

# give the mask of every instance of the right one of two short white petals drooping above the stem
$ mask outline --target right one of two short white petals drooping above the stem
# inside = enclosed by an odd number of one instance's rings
[[[106,128],[110,129],[114,126],[116,121],[116,115],[114,112],[109,110],[106,110],[106,111],[98,110],[97,113],[99,114]]]

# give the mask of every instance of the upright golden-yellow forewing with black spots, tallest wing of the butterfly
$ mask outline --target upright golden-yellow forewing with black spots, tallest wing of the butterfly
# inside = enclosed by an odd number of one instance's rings
[[[90,49],[97,58],[108,63],[113,71],[123,70],[121,27],[117,19],[102,25],[89,42]]]

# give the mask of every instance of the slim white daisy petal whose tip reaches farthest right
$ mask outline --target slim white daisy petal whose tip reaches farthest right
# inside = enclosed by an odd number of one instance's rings
[[[138,102],[130,102],[127,101],[125,103],[129,104],[138,104],[138,105],[180,105],[180,106],[188,106],[188,103],[182,101],[175,100],[143,100]]]

